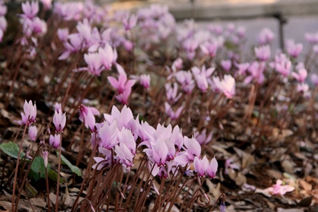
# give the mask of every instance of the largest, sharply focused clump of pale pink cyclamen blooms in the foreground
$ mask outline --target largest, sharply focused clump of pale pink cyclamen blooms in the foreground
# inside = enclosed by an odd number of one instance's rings
[[[113,106],[111,115],[104,114],[103,123],[95,123],[94,114],[97,110],[92,107],[80,107],[80,117],[86,127],[92,130],[91,143],[105,157],[94,157],[97,164],[93,168],[100,170],[112,164],[122,164],[124,170],[129,171],[133,166],[133,157],[136,148],[145,146],[144,152],[148,157],[148,167],[152,175],[169,177],[170,171],[180,167],[189,167],[195,162],[196,172],[199,177],[214,178],[218,164],[216,159],[209,163],[206,157],[201,159],[200,143],[195,138],[183,136],[178,125],[172,129],[158,124],[156,128],[147,122],[133,118],[131,109],[126,105],[120,112]],[[140,140],[138,147],[136,141]]]

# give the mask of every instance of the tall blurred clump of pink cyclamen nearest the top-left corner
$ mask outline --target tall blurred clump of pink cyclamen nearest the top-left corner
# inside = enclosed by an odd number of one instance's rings
[[[46,34],[47,26],[44,20],[37,17],[39,12],[38,1],[22,3],[22,10],[24,14],[20,15],[20,23],[22,24],[24,37],[21,37],[19,42],[22,46],[28,46],[28,54],[33,58],[36,55],[37,37]]]

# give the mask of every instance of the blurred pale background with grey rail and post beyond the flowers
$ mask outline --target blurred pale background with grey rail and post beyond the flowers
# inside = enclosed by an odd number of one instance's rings
[[[106,1],[97,0],[97,3]],[[318,0],[143,0],[108,1],[114,9],[135,10],[151,3],[166,4],[177,21],[194,19],[198,27],[230,23],[246,28],[251,44],[256,44],[262,28],[276,35],[272,47],[283,47],[286,39],[294,39],[308,50],[305,33],[318,30]]]

